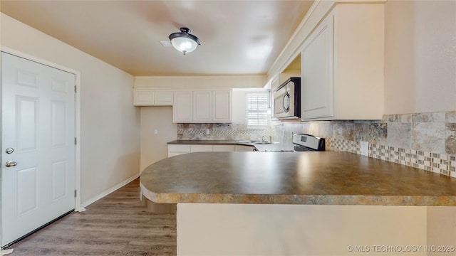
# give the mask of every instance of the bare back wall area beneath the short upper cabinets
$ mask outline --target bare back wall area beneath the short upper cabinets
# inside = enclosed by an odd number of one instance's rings
[[[140,169],[143,171],[150,164],[168,157],[167,142],[177,139],[177,124],[172,123],[172,107],[140,107],[140,109]]]

